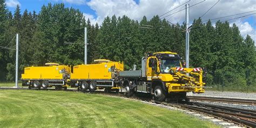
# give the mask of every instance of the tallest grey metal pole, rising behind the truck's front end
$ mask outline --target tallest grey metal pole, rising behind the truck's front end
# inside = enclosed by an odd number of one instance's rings
[[[186,68],[190,66],[190,30],[188,27],[190,26],[190,5],[186,4]]]

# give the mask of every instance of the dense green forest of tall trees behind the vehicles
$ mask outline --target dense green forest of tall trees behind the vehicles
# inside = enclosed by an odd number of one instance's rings
[[[83,64],[85,27],[88,63],[99,58],[120,60],[129,70],[133,64],[140,68],[145,52],[158,51],[177,52],[185,59],[185,32],[180,29],[185,29],[185,23],[173,25],[157,15],[141,21],[113,15],[99,25],[63,3],[43,5],[38,13],[21,12],[17,5],[12,14],[0,0],[0,46],[15,49],[19,33],[19,78],[26,66]],[[0,82],[14,81],[15,52],[0,49]],[[242,37],[238,26],[227,21],[193,19],[190,66],[207,69],[207,86],[256,86],[254,41],[249,35]]]

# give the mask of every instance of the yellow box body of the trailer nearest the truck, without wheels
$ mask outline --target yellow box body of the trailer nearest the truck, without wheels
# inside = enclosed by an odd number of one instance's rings
[[[103,62],[99,64],[82,64],[73,66],[70,79],[112,79],[111,66],[124,71],[124,64],[120,62]]]

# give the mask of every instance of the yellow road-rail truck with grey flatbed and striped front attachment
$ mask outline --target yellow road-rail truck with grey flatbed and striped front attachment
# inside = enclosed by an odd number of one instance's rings
[[[119,72],[126,96],[142,92],[158,101],[189,100],[186,92],[205,92],[202,69],[183,68],[180,59],[174,52],[146,53],[141,70]]]

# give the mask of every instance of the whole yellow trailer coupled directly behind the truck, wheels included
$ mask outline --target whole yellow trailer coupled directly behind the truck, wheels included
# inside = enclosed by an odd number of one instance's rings
[[[94,64],[82,64],[73,66],[71,73],[71,87],[78,90],[95,91],[97,88],[105,91],[119,91],[120,85],[117,81],[119,72],[124,71],[124,64],[112,62],[107,59],[96,59]]]

